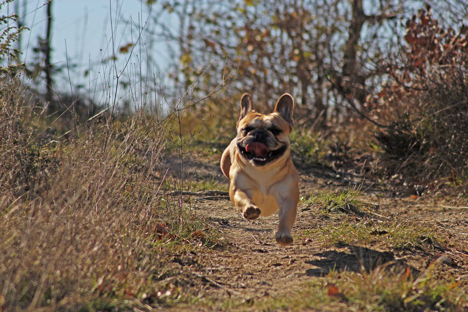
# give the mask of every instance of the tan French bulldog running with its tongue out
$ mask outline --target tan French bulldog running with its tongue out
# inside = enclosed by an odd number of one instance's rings
[[[247,220],[266,216],[279,209],[276,242],[293,242],[291,228],[299,202],[299,174],[290,155],[294,100],[284,94],[272,113],[264,115],[253,108],[252,98],[240,100],[237,136],[221,157],[221,169],[231,180],[229,196]]]

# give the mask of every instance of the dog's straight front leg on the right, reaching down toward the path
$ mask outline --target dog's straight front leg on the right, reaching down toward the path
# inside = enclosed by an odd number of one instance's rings
[[[291,229],[296,220],[297,201],[294,198],[280,198],[279,206],[279,224],[275,239],[281,246],[292,244]]]

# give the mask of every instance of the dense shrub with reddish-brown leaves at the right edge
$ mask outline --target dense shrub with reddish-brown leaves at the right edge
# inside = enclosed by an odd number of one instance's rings
[[[376,136],[382,165],[417,183],[467,183],[468,28],[444,29],[430,7],[407,27],[403,63],[389,67],[392,79],[370,103],[391,124]]]

